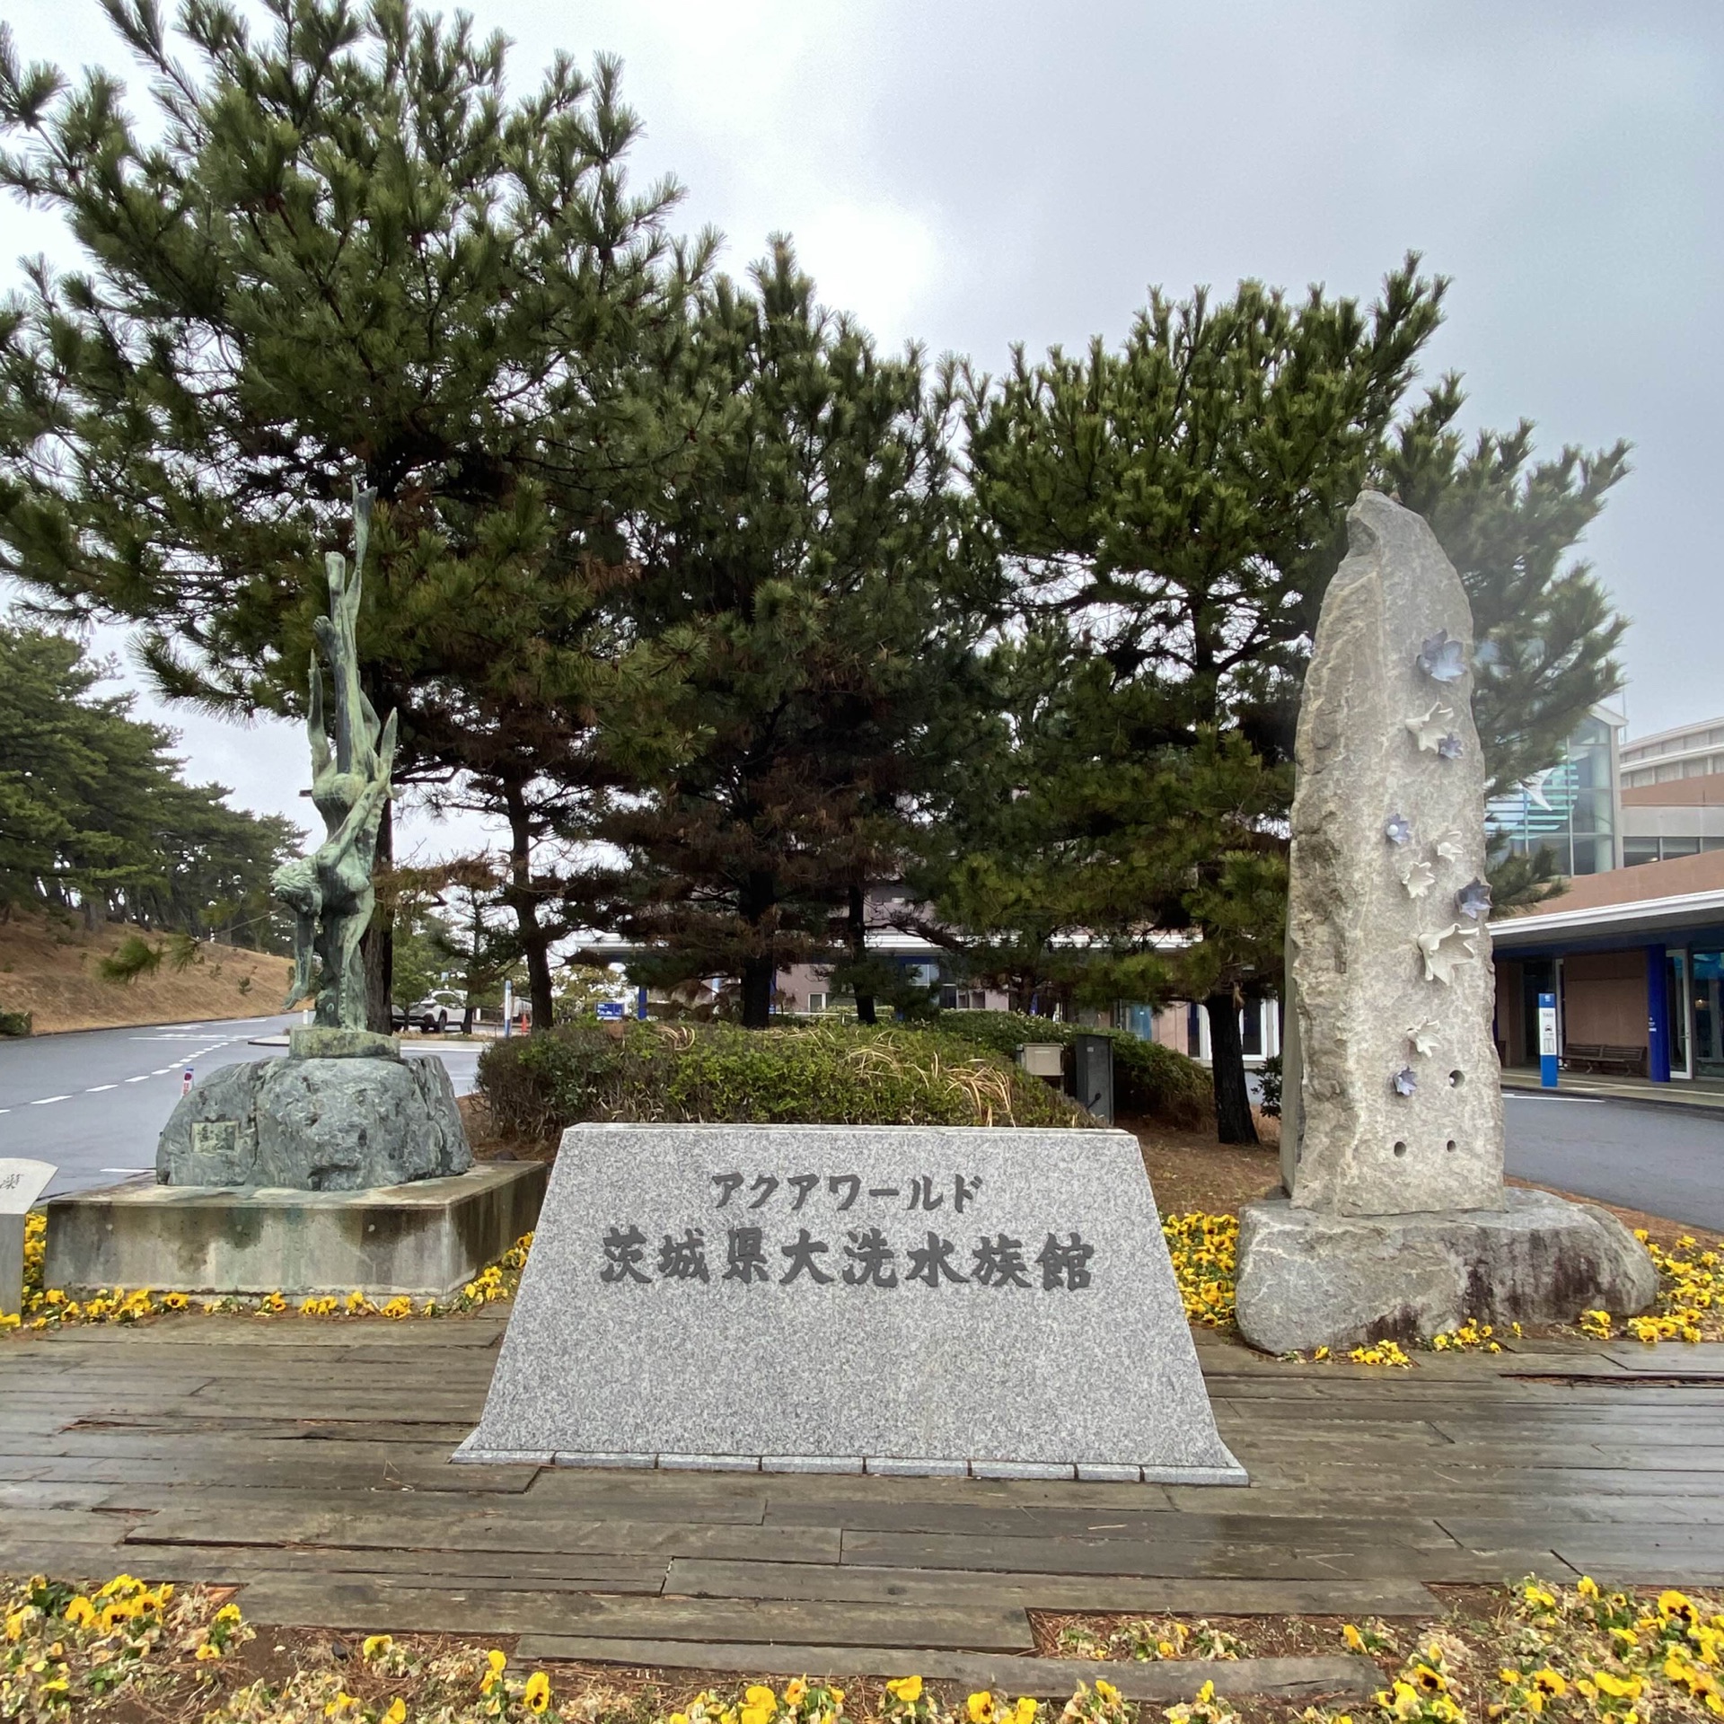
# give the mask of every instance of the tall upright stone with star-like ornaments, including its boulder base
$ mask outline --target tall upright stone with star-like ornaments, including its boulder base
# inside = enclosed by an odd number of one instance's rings
[[[1240,1329],[1290,1352],[1640,1310],[1657,1277],[1619,1221],[1503,1186],[1465,590],[1390,498],[1348,529],[1298,722],[1288,1196],[1241,1214]]]

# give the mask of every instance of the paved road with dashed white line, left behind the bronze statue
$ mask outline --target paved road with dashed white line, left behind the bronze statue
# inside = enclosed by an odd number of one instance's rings
[[[155,1169],[155,1140],[179,1100],[183,1074],[267,1059],[255,1036],[284,1034],[288,1017],[241,1017],[140,1029],[90,1029],[0,1041],[0,1155],[53,1162],[50,1193],[112,1184]],[[479,1050],[428,1043],[457,1095],[472,1088]]]

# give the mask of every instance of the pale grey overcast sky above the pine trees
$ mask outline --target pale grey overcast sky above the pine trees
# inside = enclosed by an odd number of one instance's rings
[[[95,0],[7,0],[31,57],[134,79]],[[524,88],[624,60],[641,178],[741,271],[791,233],[886,343],[998,369],[1119,340],[1145,290],[1241,276],[1371,297],[1453,278],[1431,371],[1471,426],[1634,443],[1584,547],[1627,638],[1631,734],[1724,714],[1724,7],[1479,0],[481,0]],[[0,207],[0,257],[52,229]],[[14,279],[10,262],[7,278]],[[300,819],[286,726],[169,715],[193,776]],[[409,831],[414,831],[409,822]],[[417,824],[421,841],[453,834]]]

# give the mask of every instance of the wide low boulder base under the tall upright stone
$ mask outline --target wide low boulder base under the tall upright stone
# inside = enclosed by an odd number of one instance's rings
[[[1645,1310],[1658,1276],[1614,1215],[1548,1191],[1502,1209],[1331,1215],[1286,1198],[1240,1210],[1238,1324],[1265,1353],[1427,1341],[1469,1317],[1572,1322]]]

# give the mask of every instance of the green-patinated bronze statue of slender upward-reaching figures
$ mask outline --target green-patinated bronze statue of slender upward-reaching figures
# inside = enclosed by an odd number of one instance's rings
[[[307,729],[312,743],[312,802],[324,817],[328,836],[309,855],[276,869],[276,896],[293,910],[293,991],[286,1005],[303,1000],[317,979],[317,1024],[328,1029],[365,1028],[365,969],[360,940],[371,926],[376,893],[371,869],[378,853],[378,828],[390,800],[395,759],[395,714],[378,724],[378,714],[359,686],[355,624],[371,538],[376,491],[353,484],[353,572],[340,552],[329,552],[329,615],[317,617],[317,643],[334,679],[334,746],[324,724],[322,671],[312,653]]]

